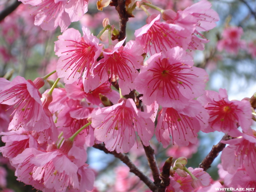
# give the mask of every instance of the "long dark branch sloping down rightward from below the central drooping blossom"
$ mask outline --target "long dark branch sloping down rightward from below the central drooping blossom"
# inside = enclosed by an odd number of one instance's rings
[[[147,175],[145,175],[143,172],[141,172],[138,169],[138,167],[132,163],[132,161],[130,160],[130,158],[127,155],[125,155],[123,153],[117,153],[116,151],[108,151],[108,149],[105,148],[104,144],[94,144],[93,147],[97,148],[97,149],[100,149],[101,151],[104,151],[107,154],[112,154],[116,158],[118,158],[121,161],[123,161],[124,164],[126,164],[130,168],[130,172],[132,172],[135,175],[137,175],[140,178],[140,180],[142,180],[148,186],[148,188],[150,188],[150,190],[156,192],[157,187],[153,183],[153,181],[150,180]]]

